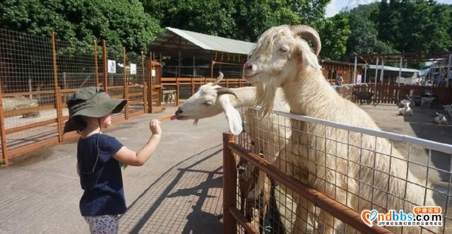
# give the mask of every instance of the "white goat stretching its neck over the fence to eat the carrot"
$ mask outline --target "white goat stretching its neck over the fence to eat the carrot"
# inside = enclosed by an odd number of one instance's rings
[[[223,75],[220,73],[220,76],[213,83],[206,83],[201,86],[194,95],[179,106],[175,113],[176,118],[182,120],[195,119],[195,122],[197,122],[198,119],[213,117],[224,112],[230,131],[235,135],[240,134],[242,131],[242,119],[235,108],[253,107],[254,103],[256,103],[256,87],[224,88],[218,85],[222,78]],[[285,101],[283,90],[276,90],[274,102],[274,110],[289,112],[290,108]],[[290,137],[290,133],[285,130],[285,127],[290,126],[290,121],[278,115],[260,118],[256,114],[255,110],[245,110],[243,115],[244,121],[246,121],[244,131],[249,134],[251,142],[255,145],[253,148],[261,151],[254,153],[263,153],[264,159],[270,163],[275,163],[279,159],[280,148],[285,146],[286,139]],[[250,124],[253,124],[253,128],[250,128]],[[280,137],[284,136],[284,134],[287,136]],[[278,163],[280,161],[278,160]],[[282,161],[285,160],[283,159]],[[258,176],[256,177],[254,167],[248,166],[248,170],[253,175],[250,176],[248,173],[244,173],[242,189],[245,191],[243,192],[246,193],[246,198],[251,202],[257,201],[257,196],[263,197],[261,206],[265,207],[270,199],[268,177],[261,170],[257,172]],[[256,182],[258,183],[256,184]]]

